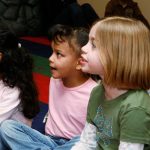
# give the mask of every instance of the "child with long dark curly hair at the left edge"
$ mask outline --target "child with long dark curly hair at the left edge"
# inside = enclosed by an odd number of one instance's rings
[[[0,124],[14,119],[31,126],[39,112],[32,68],[29,53],[0,20]]]

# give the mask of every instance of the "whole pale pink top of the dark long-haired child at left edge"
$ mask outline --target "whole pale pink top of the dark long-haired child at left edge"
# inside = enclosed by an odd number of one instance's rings
[[[10,88],[0,80],[0,124],[4,120],[13,119],[31,126],[32,120],[25,118],[20,110],[19,93],[18,88]]]

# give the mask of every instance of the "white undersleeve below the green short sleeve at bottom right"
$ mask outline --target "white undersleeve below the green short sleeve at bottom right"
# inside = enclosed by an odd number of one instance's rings
[[[120,141],[119,150],[143,150],[144,144]]]

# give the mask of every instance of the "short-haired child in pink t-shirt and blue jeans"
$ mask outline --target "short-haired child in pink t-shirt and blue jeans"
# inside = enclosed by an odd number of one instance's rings
[[[69,150],[84,128],[90,92],[97,85],[81,72],[79,64],[88,32],[56,25],[49,34],[53,54],[49,58],[52,78],[46,135],[15,121],[4,122],[1,126],[3,149],[5,146],[13,150]]]

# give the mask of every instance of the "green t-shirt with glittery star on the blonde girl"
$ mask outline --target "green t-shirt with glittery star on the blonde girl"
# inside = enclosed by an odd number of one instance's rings
[[[91,93],[87,122],[97,128],[97,150],[117,150],[120,140],[150,144],[150,96],[129,90],[108,101],[99,85]]]

